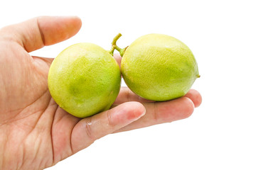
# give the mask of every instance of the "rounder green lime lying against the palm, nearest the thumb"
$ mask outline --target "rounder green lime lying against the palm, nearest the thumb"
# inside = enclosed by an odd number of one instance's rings
[[[109,109],[120,86],[116,60],[92,43],[78,43],[60,52],[48,74],[48,88],[55,102],[78,118]]]

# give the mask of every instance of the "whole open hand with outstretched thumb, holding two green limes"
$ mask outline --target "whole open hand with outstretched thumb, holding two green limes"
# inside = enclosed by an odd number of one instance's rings
[[[84,119],[63,111],[47,86],[53,59],[28,52],[72,37],[81,24],[78,17],[44,16],[1,28],[0,169],[45,169],[100,137],[188,118],[200,106],[196,90],[173,101],[154,102],[123,87],[108,111]]]

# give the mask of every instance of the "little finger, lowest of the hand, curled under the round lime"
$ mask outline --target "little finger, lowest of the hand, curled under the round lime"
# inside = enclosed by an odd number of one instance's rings
[[[71,136],[73,152],[89,146],[95,140],[108,135],[145,114],[145,108],[138,102],[123,103],[103,113],[80,120]]]

